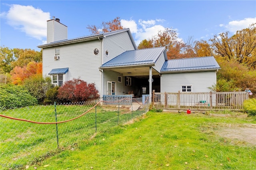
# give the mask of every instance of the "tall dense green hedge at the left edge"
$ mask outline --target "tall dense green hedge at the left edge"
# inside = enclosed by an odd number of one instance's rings
[[[0,110],[36,105],[37,99],[22,86],[0,85]]]

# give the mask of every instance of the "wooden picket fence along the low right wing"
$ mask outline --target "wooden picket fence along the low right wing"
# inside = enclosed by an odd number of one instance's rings
[[[152,104],[159,109],[173,110],[234,110],[243,109],[246,91],[210,93],[152,93]]]

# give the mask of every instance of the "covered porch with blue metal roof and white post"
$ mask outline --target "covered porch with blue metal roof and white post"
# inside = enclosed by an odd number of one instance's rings
[[[167,60],[165,47],[126,51],[104,63],[103,95],[132,95],[132,98],[160,92],[161,68]]]

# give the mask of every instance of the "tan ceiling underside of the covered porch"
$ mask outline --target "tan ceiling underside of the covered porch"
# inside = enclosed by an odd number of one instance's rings
[[[121,68],[121,69],[111,69],[118,73],[122,73],[123,76],[133,76],[133,77],[145,77],[149,76],[149,67],[134,67],[134,68]],[[158,71],[152,68],[152,75],[159,75]]]

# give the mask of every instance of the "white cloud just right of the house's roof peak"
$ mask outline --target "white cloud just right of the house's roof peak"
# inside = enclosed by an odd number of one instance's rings
[[[135,20],[121,20],[121,25],[124,28],[130,28],[131,33],[134,36],[136,45],[142,40],[148,40],[155,36],[160,30],[164,30],[164,26],[156,25],[157,22],[163,22],[164,20],[138,20],[138,24]]]

